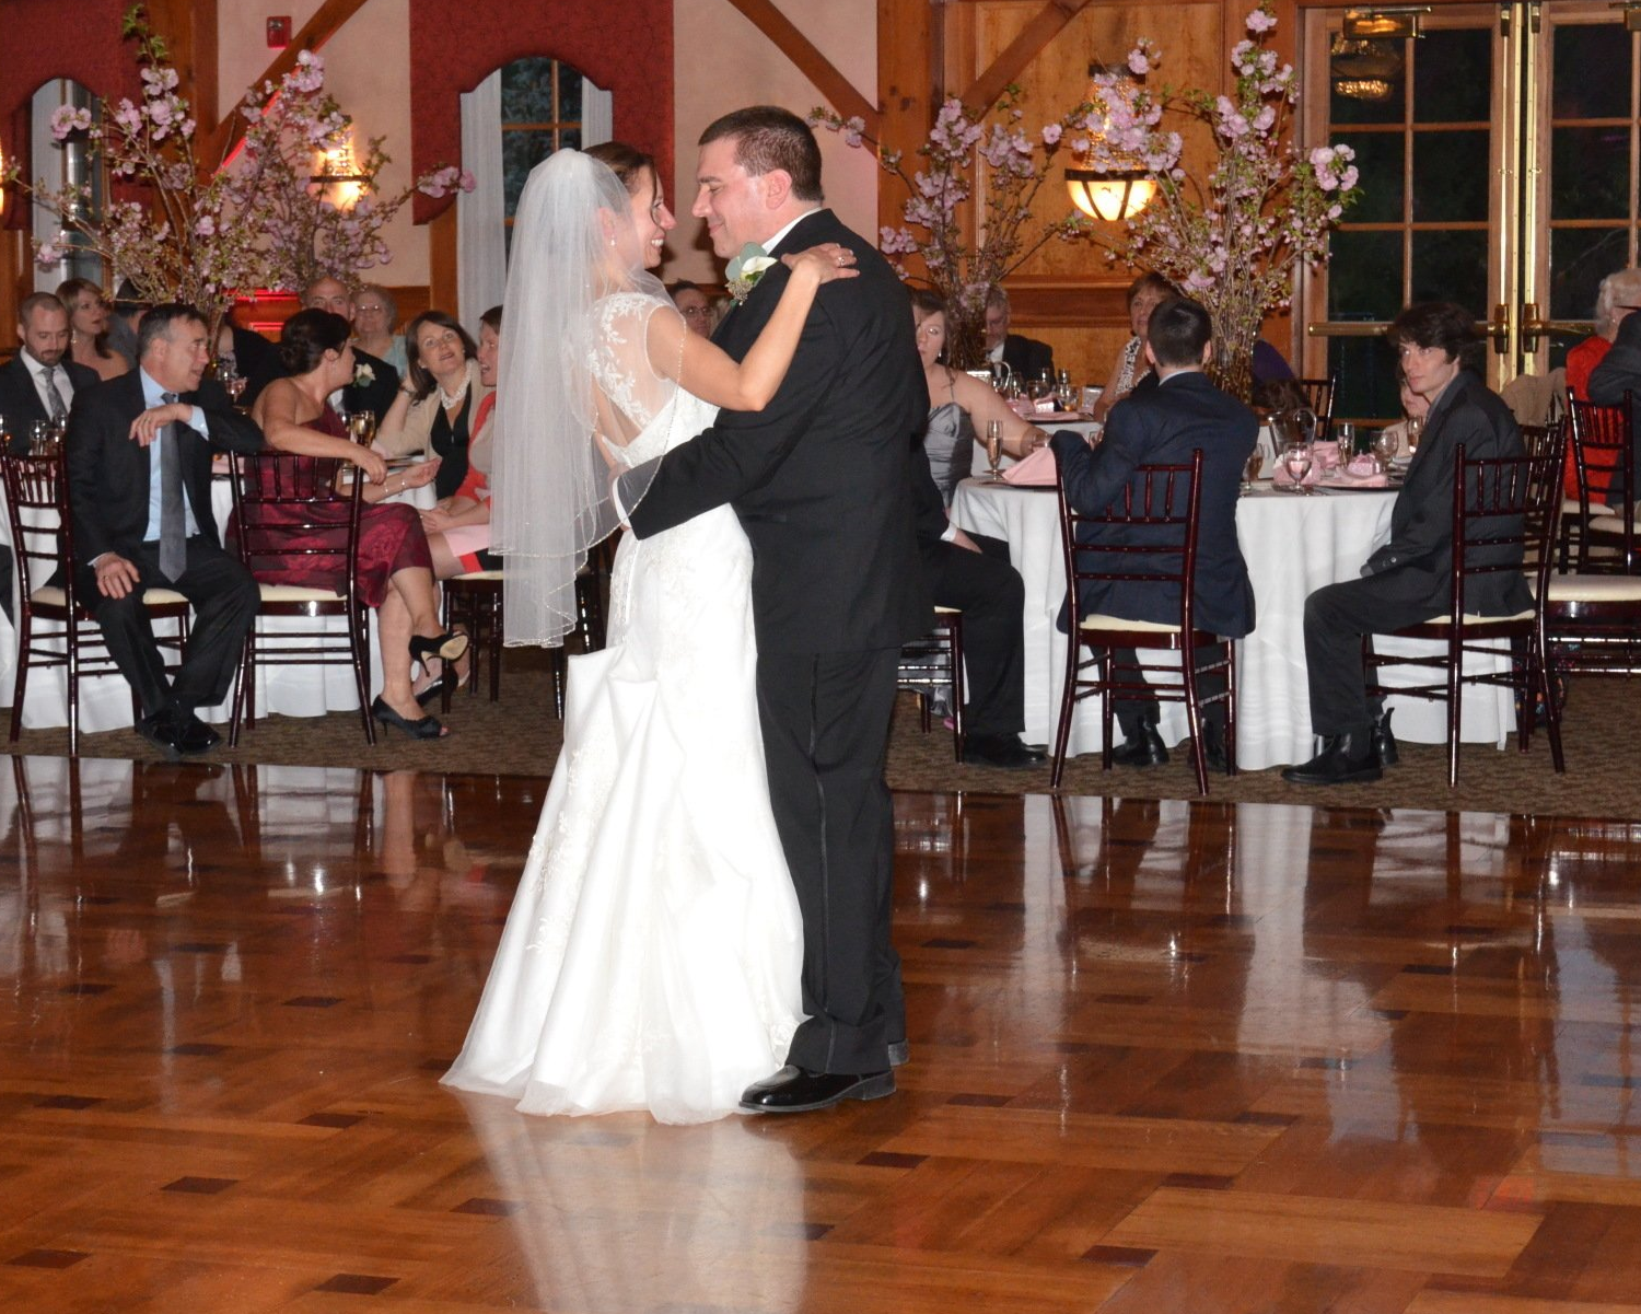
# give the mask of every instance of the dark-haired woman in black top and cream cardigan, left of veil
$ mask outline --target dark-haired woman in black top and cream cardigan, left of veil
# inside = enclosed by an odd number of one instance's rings
[[[468,477],[468,443],[479,397],[478,343],[443,310],[427,310],[405,331],[410,376],[382,420],[376,446],[387,456],[430,451],[441,461],[433,484],[451,497]]]

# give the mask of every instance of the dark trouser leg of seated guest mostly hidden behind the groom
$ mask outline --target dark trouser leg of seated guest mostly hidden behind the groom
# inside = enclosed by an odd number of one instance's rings
[[[937,607],[963,614],[963,666],[970,735],[1026,728],[1026,586],[1006,559],[942,543],[934,579]]]

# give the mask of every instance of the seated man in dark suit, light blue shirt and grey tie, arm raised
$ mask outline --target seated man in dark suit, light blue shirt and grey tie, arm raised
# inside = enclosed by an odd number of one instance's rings
[[[203,753],[218,737],[194,710],[226,697],[258,604],[256,582],[217,538],[212,448],[261,451],[263,435],[218,382],[202,381],[210,344],[197,310],[156,305],[136,348],[138,369],[82,389],[69,415],[74,582],[136,691],[143,737],[171,753]],[[146,589],[174,589],[194,607],[176,681],[154,643]]]

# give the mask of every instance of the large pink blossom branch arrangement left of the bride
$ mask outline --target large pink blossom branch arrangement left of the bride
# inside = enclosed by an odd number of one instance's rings
[[[82,136],[107,164],[115,197],[102,213],[90,208],[90,187],[30,185],[15,166],[3,180],[51,210],[64,238],[79,233],[146,300],[187,302],[215,322],[235,295],[254,289],[300,290],[322,274],[358,277],[389,262],[382,228],[415,192],[473,187],[471,176],[445,166],[379,197],[376,179],[389,161],[376,138],[350,184],[358,200],[330,202],[312,182],[315,161],[348,144],[353,120],[325,92],[325,64],[310,51],[279,84],[246,92],[236,107],[246,120],[241,148],[207,164],[194,151],[197,121],[177,95],[169,46],[141,5],[126,10],[123,36],[136,43],[141,103],[105,100],[97,120],[64,105],[51,123],[59,143]],[[64,240],[39,243],[36,259],[54,264],[64,249]]]

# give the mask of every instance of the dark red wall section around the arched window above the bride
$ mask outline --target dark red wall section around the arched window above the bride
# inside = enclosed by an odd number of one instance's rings
[[[615,136],[673,176],[670,0],[417,0],[410,7],[410,167],[461,161],[461,102],[525,56],[573,64],[614,94]],[[415,198],[417,223],[451,200]]]

